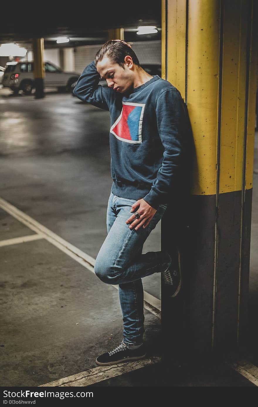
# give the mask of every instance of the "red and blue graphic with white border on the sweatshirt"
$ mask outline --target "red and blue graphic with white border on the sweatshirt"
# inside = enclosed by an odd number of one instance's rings
[[[110,133],[127,143],[141,143],[141,127],[145,103],[122,102],[119,118],[111,126]]]

